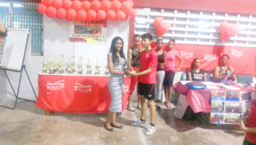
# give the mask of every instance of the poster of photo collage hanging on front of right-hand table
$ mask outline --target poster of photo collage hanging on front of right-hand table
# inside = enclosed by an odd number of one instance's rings
[[[248,116],[253,105],[251,92],[211,91],[210,123],[239,124],[241,116]]]

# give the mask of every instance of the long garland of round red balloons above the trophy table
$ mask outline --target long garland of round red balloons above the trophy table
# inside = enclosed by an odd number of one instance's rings
[[[83,1],[78,0],[41,0],[37,9],[39,13],[46,14],[48,17],[57,17],[67,21],[92,21],[92,20],[118,20],[123,21],[129,17],[134,18],[137,15],[136,9],[133,9],[132,0],[126,0],[122,3],[118,0],[109,1],[98,0]]]

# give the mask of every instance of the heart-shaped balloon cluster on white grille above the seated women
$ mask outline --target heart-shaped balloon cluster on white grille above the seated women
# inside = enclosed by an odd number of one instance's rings
[[[228,40],[231,36],[235,36],[239,32],[236,24],[229,24],[227,21],[221,22],[219,28],[221,30],[221,40]]]

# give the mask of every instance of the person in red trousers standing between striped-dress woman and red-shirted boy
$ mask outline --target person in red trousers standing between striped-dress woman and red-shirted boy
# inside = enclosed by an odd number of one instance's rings
[[[140,36],[138,34],[134,34],[132,38],[133,46],[132,48],[128,49],[127,56],[132,56],[132,70],[138,70],[140,68]],[[134,91],[135,85],[138,82],[138,76],[132,76],[130,79],[130,90],[129,90],[129,97],[128,97],[128,106],[127,109],[129,111],[134,111],[134,108],[132,107],[132,93]],[[137,108],[140,110],[140,94],[138,93],[138,83],[137,83],[137,96],[138,96],[138,105]]]

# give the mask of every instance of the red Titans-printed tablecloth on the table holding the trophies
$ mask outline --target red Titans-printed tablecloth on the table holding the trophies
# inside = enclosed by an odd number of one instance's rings
[[[111,103],[109,76],[39,74],[36,106],[45,111],[106,113]],[[125,77],[122,110],[126,109],[130,77]]]

